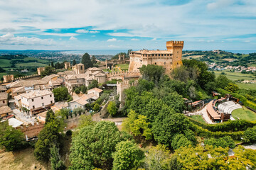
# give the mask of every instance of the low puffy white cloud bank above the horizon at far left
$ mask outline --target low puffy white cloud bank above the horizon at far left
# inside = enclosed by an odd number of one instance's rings
[[[6,33],[0,36],[0,44],[2,45],[53,45],[52,39],[28,38],[14,36],[12,33]]]

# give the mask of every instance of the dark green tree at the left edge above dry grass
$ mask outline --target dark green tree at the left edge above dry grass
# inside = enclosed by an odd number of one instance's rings
[[[6,151],[21,149],[24,145],[24,137],[21,130],[16,130],[8,125],[8,121],[0,123],[0,146],[4,147]]]

